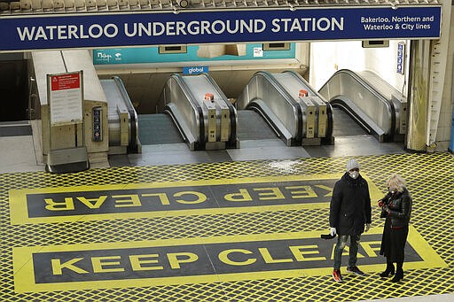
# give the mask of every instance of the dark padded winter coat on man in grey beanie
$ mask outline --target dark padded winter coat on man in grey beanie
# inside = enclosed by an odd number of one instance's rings
[[[371,223],[372,209],[369,185],[359,175],[353,179],[346,174],[334,185],[330,204],[330,227],[339,235],[360,235],[364,225]]]

